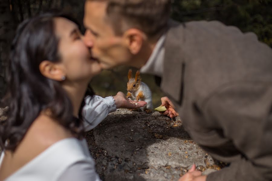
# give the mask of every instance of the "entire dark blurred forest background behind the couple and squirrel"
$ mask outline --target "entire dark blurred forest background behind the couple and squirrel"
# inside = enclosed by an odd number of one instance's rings
[[[82,24],[84,0],[0,0],[0,97],[5,92],[8,50],[17,25],[52,8],[70,12]],[[259,40],[272,47],[272,0],[173,0],[172,18],[178,21],[219,20],[243,32],[253,31]],[[118,91],[126,94],[127,73],[128,67],[103,71],[93,78],[91,85],[102,97]],[[159,106],[160,97],[164,95],[154,84],[153,76],[142,75],[142,80],[151,87],[154,107]]]

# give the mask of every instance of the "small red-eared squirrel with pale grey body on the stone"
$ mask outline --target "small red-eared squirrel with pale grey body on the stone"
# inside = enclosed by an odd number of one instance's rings
[[[128,83],[127,83],[127,98],[136,101],[145,101],[147,104],[139,109],[147,113],[151,113],[152,106],[152,93],[150,88],[141,81],[140,71],[136,72],[135,78],[132,77],[132,70],[128,71]]]

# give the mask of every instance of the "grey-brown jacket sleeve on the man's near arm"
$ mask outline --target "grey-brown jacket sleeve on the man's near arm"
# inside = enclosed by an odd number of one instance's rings
[[[246,82],[221,88],[206,101],[203,112],[240,153],[229,167],[209,174],[207,181],[272,180],[271,83]]]

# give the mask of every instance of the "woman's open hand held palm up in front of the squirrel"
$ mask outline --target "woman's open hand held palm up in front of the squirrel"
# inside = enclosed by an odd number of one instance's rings
[[[143,107],[147,103],[145,101],[134,101],[128,99],[124,93],[118,92],[116,96],[113,96],[115,100],[116,108],[137,109]],[[137,103],[137,104],[135,104]]]

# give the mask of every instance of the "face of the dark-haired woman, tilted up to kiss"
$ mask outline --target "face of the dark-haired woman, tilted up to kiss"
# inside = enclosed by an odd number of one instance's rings
[[[90,81],[101,71],[99,63],[92,59],[77,25],[66,18],[54,19],[55,33],[59,38],[60,64],[67,81]]]

